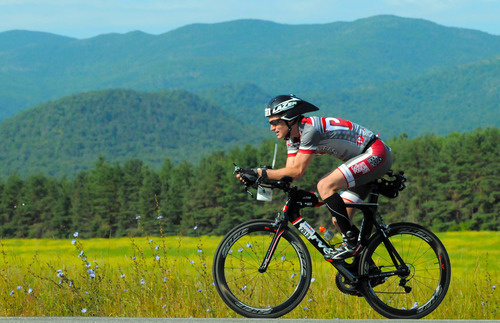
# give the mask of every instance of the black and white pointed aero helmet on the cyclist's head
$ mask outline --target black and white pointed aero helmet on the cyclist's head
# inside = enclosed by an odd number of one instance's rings
[[[266,117],[279,114],[282,120],[291,121],[304,113],[317,110],[319,108],[315,105],[290,94],[278,95],[269,101],[265,113]]]

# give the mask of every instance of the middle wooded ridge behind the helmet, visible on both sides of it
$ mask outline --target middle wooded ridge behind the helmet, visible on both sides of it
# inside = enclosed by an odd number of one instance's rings
[[[272,95],[255,85],[220,86],[196,93],[241,122],[269,129],[263,111]],[[295,94],[317,105],[316,115],[352,120],[387,139],[402,133],[444,136],[499,127],[500,56],[410,80]]]

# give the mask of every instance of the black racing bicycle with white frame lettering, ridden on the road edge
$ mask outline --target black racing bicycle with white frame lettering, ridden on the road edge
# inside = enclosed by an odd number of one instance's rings
[[[235,172],[240,171],[236,166]],[[346,203],[363,213],[358,237],[362,251],[331,262],[338,271],[335,283],[343,293],[363,296],[387,318],[418,319],[444,299],[450,259],[428,229],[414,223],[384,223],[377,211],[379,195],[394,198],[406,187],[403,172],[391,171],[388,177],[372,183],[366,203]],[[302,208],[324,204],[314,193],[292,186],[289,177],[260,185],[287,194],[283,210],[274,220],[251,220],[229,231],[215,252],[213,278],[220,297],[238,314],[276,318],[292,311],[309,289],[311,257],[304,241],[323,256],[335,246],[300,215]]]

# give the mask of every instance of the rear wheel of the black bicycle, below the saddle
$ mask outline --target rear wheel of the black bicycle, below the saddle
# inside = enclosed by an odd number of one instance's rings
[[[435,234],[414,223],[390,225],[386,234],[410,274],[378,281],[365,279],[360,283],[363,295],[375,311],[387,318],[422,318],[434,311],[446,296],[451,279],[448,253]],[[373,273],[371,261],[378,266],[377,274],[395,270],[380,233],[370,239],[363,252],[361,274],[367,275],[370,270]]]

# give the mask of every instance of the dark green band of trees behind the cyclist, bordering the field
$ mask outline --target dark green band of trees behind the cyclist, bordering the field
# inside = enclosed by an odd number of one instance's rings
[[[498,230],[498,128],[446,137],[400,135],[388,141],[394,170],[404,170],[408,188],[396,199],[381,198],[385,221],[411,221],[435,231]],[[0,238],[83,238],[141,235],[221,235],[243,221],[272,218],[283,194],[270,203],[253,200],[232,174],[241,167],[270,164],[275,141],[215,151],[197,164],[166,159],[159,170],[140,159],[121,164],[101,157],[70,178],[11,174],[0,181]],[[278,143],[277,167],[285,146]],[[296,183],[316,190],[316,181],[337,166],[316,157]],[[315,226],[330,225],[324,208],[305,209]],[[358,216],[359,217],[359,216]]]

